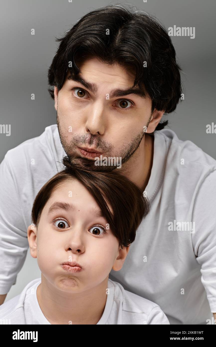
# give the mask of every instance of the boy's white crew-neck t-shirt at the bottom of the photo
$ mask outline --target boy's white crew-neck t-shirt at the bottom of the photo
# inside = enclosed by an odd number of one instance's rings
[[[51,324],[37,300],[40,283],[41,278],[29,282],[20,295],[3,303],[0,323],[2,320],[5,324]],[[152,301],[124,290],[110,279],[107,289],[104,312],[97,324],[170,324],[161,308]]]

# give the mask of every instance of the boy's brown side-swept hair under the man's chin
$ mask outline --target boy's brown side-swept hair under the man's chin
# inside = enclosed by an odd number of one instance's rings
[[[77,179],[94,197],[119,247],[128,247],[136,236],[136,230],[149,210],[150,204],[136,184],[116,171],[95,172],[73,166],[67,156],[62,163],[64,170],[58,172],[40,189],[32,207],[32,222],[38,227],[42,210],[52,193],[65,181]],[[113,209],[110,211],[109,203]]]

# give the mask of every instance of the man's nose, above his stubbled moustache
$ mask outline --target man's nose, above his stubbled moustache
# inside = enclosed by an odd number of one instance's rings
[[[88,110],[87,121],[86,121],[86,131],[89,131],[92,135],[103,135],[106,126],[106,117],[104,105],[99,102],[95,102],[91,105]]]

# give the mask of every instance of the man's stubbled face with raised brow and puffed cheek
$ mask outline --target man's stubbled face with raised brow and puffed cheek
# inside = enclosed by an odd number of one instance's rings
[[[95,166],[94,158],[102,155],[121,158],[121,164],[127,162],[144,141],[144,126],[151,117],[152,101],[148,96],[127,92],[119,96],[116,91],[128,90],[134,82],[134,76],[120,65],[106,65],[93,57],[77,66],[81,71],[79,77],[95,88],[68,79],[69,72],[62,89],[58,92],[55,87],[61,143],[78,167],[87,165],[90,170],[111,171],[116,166]],[[80,147],[100,153],[90,156]]]

